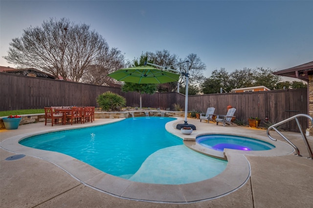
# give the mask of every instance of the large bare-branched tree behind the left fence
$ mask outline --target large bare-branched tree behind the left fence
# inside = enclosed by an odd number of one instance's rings
[[[87,24],[74,24],[62,18],[44,21],[42,27],[23,30],[22,38],[12,39],[9,63],[34,67],[65,80],[79,82],[91,65],[98,65],[109,45]],[[107,60],[108,61],[108,60]],[[92,68],[92,67],[91,67]]]

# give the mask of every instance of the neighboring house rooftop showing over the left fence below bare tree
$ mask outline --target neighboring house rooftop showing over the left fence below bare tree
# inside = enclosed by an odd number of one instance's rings
[[[42,78],[48,78],[48,79],[55,79],[54,76],[47,74],[45,72],[42,72],[35,68],[25,68],[25,69],[15,69],[12,67],[6,67],[6,66],[0,66],[0,72],[6,72],[6,73],[12,73],[12,74],[19,74],[24,76],[31,76],[34,77],[42,77]]]

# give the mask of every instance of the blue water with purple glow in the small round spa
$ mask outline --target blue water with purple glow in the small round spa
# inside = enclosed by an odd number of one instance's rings
[[[224,148],[253,151],[275,148],[270,143],[261,140],[223,134],[202,135],[197,137],[196,142],[217,151],[224,151]]]

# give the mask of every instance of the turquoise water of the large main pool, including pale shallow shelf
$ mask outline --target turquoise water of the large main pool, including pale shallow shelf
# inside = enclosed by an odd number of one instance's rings
[[[190,150],[165,130],[165,117],[138,117],[41,134],[21,145],[67,154],[106,173],[154,184],[187,184],[212,178],[227,162]]]

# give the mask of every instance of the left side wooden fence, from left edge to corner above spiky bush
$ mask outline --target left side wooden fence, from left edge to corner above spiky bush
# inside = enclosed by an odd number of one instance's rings
[[[0,110],[38,109],[45,106],[95,106],[97,95],[119,88],[0,73]]]

